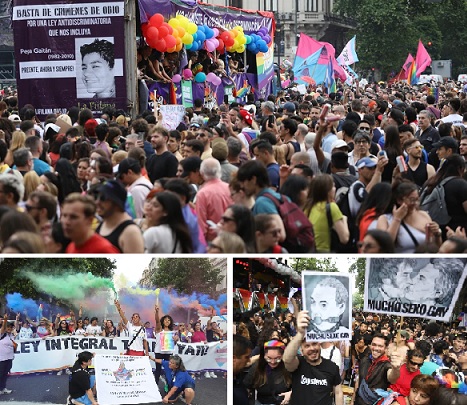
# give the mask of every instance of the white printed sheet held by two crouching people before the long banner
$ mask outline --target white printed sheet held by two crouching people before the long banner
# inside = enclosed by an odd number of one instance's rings
[[[102,404],[161,402],[149,357],[97,355],[96,388]]]

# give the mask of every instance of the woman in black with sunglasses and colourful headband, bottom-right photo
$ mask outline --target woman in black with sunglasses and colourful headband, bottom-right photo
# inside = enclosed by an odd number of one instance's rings
[[[280,340],[265,342],[258,361],[248,371],[243,382],[250,390],[256,391],[255,405],[289,403],[292,376],[282,361],[284,350],[285,345]]]

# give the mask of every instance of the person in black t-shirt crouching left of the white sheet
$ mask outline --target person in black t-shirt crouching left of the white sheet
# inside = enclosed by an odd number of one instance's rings
[[[83,404],[97,405],[92,391],[95,384],[95,376],[89,374],[88,367],[92,363],[93,354],[91,352],[81,352],[78,354],[73,368],[71,369],[70,383],[68,387],[68,403],[76,402]]]

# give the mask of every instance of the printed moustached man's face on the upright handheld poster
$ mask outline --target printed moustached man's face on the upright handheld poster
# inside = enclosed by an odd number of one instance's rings
[[[320,331],[332,329],[339,323],[345,304],[337,303],[337,289],[317,285],[310,296],[311,322]]]

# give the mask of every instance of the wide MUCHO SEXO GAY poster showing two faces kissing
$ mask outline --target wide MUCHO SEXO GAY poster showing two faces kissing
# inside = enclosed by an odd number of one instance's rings
[[[449,321],[467,259],[367,259],[364,311]]]

